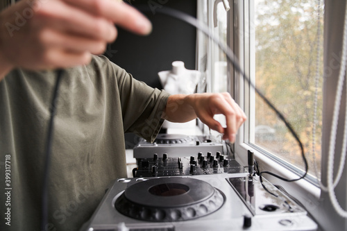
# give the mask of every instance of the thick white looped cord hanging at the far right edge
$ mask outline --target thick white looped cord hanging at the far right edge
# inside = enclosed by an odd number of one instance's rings
[[[335,96],[335,105],[334,105],[334,111],[332,115],[332,127],[330,132],[330,144],[329,144],[329,153],[328,153],[328,193],[329,197],[332,203],[332,207],[334,207],[335,211],[339,216],[342,216],[344,218],[347,218],[347,211],[341,208],[339,205],[339,202],[337,201],[335,191],[334,191],[334,184],[333,184],[333,169],[334,169],[334,155],[335,155],[335,142],[336,142],[336,135],[337,135],[337,123],[339,119],[339,108],[341,104],[341,96],[342,96],[342,89],[344,87],[344,77],[346,74],[346,60],[347,60],[347,3],[346,3],[346,10],[345,10],[345,20],[344,20],[344,37],[343,37],[343,45],[342,45],[342,55],[341,55],[341,67],[339,71],[339,80],[337,83],[337,92]],[[345,129],[344,129],[344,143],[346,143],[346,122],[347,122],[347,113],[345,117]],[[345,160],[346,158],[346,146],[344,144],[343,148],[344,153],[341,153],[341,161]]]

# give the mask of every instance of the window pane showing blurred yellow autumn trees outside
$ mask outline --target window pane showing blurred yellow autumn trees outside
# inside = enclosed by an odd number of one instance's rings
[[[323,5],[323,4],[322,4]],[[321,6],[323,8],[323,6]],[[255,1],[255,85],[282,112],[303,142],[314,173],[312,127],[317,42],[323,67],[323,10],[317,40],[317,1]],[[323,69],[319,69],[320,76]],[[322,84],[319,78],[315,153],[320,171]],[[282,160],[304,169],[300,148],[285,124],[255,96],[254,143]]]

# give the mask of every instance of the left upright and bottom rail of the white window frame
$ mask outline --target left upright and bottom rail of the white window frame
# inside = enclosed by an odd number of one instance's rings
[[[240,66],[242,69],[244,69],[245,74],[249,76],[251,81],[254,83],[255,70],[251,63],[254,63],[255,60],[255,53],[252,52],[255,50],[252,47],[252,45],[254,45],[255,38],[252,34],[254,32],[253,28],[250,26],[250,22],[253,21],[253,15],[249,14],[249,12],[253,11],[253,1],[235,0],[233,1],[232,5],[234,6],[234,10],[232,12],[234,15],[233,17],[230,17],[233,19],[233,24],[230,25],[234,25],[234,30],[230,30],[230,33],[233,34],[234,40],[230,41],[230,44],[228,45],[233,46],[235,55],[240,61]],[[250,10],[248,11],[245,9]],[[231,44],[231,42],[233,44]],[[272,171],[273,173],[277,173],[280,176],[285,176],[289,179],[298,178],[298,176],[301,176],[304,173],[303,171],[297,170],[295,172],[293,171],[294,168],[290,168],[289,165],[285,165],[285,163],[281,162],[279,158],[276,159],[276,157],[268,155],[269,153],[266,153],[266,151],[263,151],[261,148],[248,144],[248,141],[254,141],[254,131],[252,129],[254,128],[255,124],[255,112],[254,110],[249,110],[249,108],[255,108],[255,91],[248,85],[248,82],[244,80],[244,77],[235,72],[231,66],[230,72],[233,72],[235,76],[235,101],[239,103],[242,110],[244,110],[244,112],[248,115],[248,121],[239,129],[235,142],[237,161],[246,165],[247,152],[248,150],[253,150],[255,152],[255,158],[258,160],[263,169]],[[271,180],[276,180],[276,178],[271,176],[269,176],[269,178],[271,178]],[[312,183],[307,182],[307,178],[298,182],[300,182],[300,185],[306,186],[307,191],[314,194],[316,198],[319,198],[319,188],[312,187]],[[290,184],[293,185],[293,182]]]

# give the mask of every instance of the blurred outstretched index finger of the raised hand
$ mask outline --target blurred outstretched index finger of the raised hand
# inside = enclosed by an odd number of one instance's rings
[[[149,19],[146,19],[135,8],[114,0],[63,0],[71,6],[76,6],[92,13],[93,15],[108,19],[110,22],[122,28],[137,33],[147,35],[151,33],[152,26]]]

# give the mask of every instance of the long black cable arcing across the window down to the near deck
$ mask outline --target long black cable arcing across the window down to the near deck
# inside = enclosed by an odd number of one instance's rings
[[[149,11],[149,9],[144,7],[144,6],[139,6],[138,9],[141,11]],[[242,70],[242,68],[239,65],[239,61],[235,57],[235,54],[232,52],[230,47],[224,46],[224,44],[218,39],[218,37],[214,36],[214,34],[211,33],[208,26],[206,26],[202,22],[198,21],[198,19],[192,17],[191,15],[187,15],[184,12],[180,12],[178,10],[174,10],[174,9],[168,8],[168,7],[158,8],[158,9],[156,9],[155,12],[161,13],[163,15],[168,15],[168,16],[174,17],[176,19],[180,19],[181,21],[186,22],[187,24],[190,24],[190,25],[196,27],[199,31],[205,33],[205,35],[210,37],[210,39],[213,40],[213,42],[219,46],[219,49],[221,49],[224,53],[226,53],[226,58],[232,63],[235,70],[238,71],[239,74],[241,74],[244,77],[244,79],[247,80],[248,84],[251,87],[253,87],[253,89],[255,89],[255,92],[257,92],[257,94],[260,96],[260,98],[262,98],[264,100],[264,102],[271,108],[271,110],[276,112],[276,114],[280,118],[280,120],[282,120],[285,123],[285,126],[291,132],[291,135],[293,135],[293,137],[296,139],[296,142],[298,142],[298,146],[300,146],[300,149],[301,149],[301,156],[303,157],[303,161],[305,164],[305,173],[303,174],[303,176],[300,176],[299,178],[296,178],[296,179],[289,180],[287,178],[283,178],[282,176],[279,176],[279,175],[272,173],[270,171],[262,171],[262,172],[260,172],[260,179],[262,178],[262,174],[269,174],[271,176],[274,176],[274,177],[279,178],[280,180],[284,180],[286,182],[293,182],[293,181],[301,180],[301,179],[305,178],[305,176],[307,175],[307,171],[308,171],[308,164],[307,164],[307,160],[305,157],[305,151],[303,149],[303,144],[301,143],[300,138],[296,134],[295,130],[292,128],[289,121],[287,121],[287,119],[285,119],[283,114],[273,105],[273,103],[271,103],[269,101],[269,99],[267,99],[264,96],[264,94],[262,94],[262,92],[260,92],[259,89],[257,89],[257,87],[255,87],[255,85],[251,82],[250,78],[248,78],[246,73],[244,73],[244,71]],[[263,187],[264,187],[264,185],[263,185]]]

